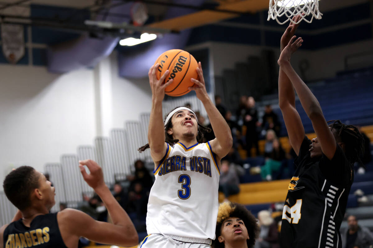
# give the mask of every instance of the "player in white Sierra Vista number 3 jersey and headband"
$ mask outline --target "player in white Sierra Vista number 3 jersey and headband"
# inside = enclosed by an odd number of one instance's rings
[[[195,90],[203,103],[216,138],[199,143],[204,128],[191,109],[179,107],[162,118],[164,88],[168,71],[156,79],[159,64],[149,70],[153,94],[148,130],[156,180],[150,191],[146,218],[148,236],[141,248],[207,248],[215,239],[218,209],[219,165],[232,147],[232,135],[223,116],[211,102],[204,83],[201,63]]]

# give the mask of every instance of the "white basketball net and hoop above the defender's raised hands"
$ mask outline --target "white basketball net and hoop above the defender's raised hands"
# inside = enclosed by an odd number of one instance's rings
[[[279,20],[278,17],[287,17],[285,21]],[[292,20],[294,16],[300,15],[301,18],[298,22]],[[311,23],[313,18],[321,19],[322,13],[319,11],[318,0],[270,0],[268,18],[276,20],[279,24],[284,24],[291,21],[294,24],[298,24],[301,20],[305,20]]]

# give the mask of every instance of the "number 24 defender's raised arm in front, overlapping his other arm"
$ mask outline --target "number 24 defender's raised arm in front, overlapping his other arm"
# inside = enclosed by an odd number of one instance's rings
[[[330,132],[319,101],[317,101],[314,94],[290,64],[291,55],[297,51],[303,42],[301,38],[298,38],[295,42],[294,40],[295,36],[291,38],[288,45],[283,49],[278,64],[289,77],[295,91],[297,91],[302,107],[312,122],[313,129],[319,139],[323,154],[331,160],[336,151],[336,142],[333,133]]]

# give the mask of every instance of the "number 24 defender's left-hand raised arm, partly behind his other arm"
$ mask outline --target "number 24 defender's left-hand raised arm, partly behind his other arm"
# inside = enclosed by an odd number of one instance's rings
[[[297,22],[299,18],[300,16],[296,16],[293,17],[293,20]],[[292,23],[290,22],[288,28],[285,30],[281,37],[281,52],[289,43],[298,26],[299,24],[292,25]],[[298,155],[305,135],[304,127],[301,117],[299,116],[299,113],[295,108],[294,87],[292,86],[288,76],[282,70],[281,66],[279,71],[279,106],[282,112],[283,120],[285,122],[286,130],[288,131],[290,144],[295,153]]]

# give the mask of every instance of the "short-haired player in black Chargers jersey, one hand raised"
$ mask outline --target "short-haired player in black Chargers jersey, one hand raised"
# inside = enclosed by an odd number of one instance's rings
[[[85,172],[87,165],[90,174]],[[4,179],[4,191],[19,211],[12,223],[0,229],[0,248],[77,248],[79,237],[103,244],[131,247],[138,244],[135,226],[104,183],[101,167],[94,161],[79,161],[84,180],[101,197],[114,224],[92,219],[75,209],[49,213],[55,189],[34,168],[21,166]]]

